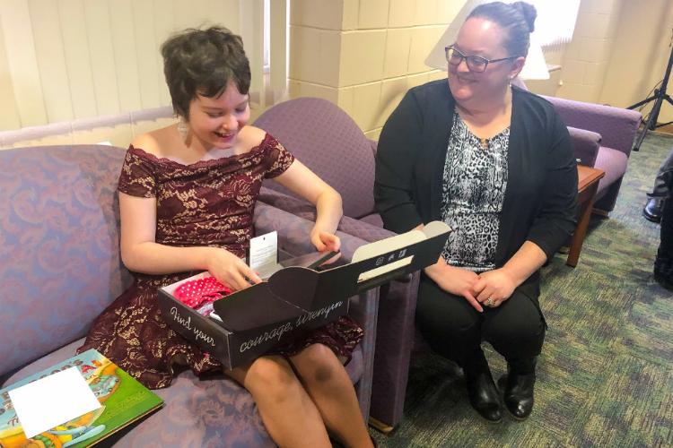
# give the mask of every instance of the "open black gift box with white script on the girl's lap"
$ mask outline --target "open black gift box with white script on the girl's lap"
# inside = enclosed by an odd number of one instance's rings
[[[449,226],[433,221],[423,231],[361,246],[351,263],[324,269],[293,265],[302,257],[284,260],[267,281],[216,300],[219,320],[173,296],[182,283],[210,277],[208,272],[159,289],[159,306],[176,332],[235,368],[347,314],[350,297],[437,263],[449,233]]]

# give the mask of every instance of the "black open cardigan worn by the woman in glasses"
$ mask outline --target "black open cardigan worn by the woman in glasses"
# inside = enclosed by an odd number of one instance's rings
[[[407,91],[383,126],[374,199],[385,228],[403,233],[441,220],[454,107],[447,80],[429,82]],[[570,134],[554,106],[517,87],[507,166],[495,265],[502,267],[527,240],[549,260],[575,228],[577,168]],[[529,280],[538,289],[538,274]]]

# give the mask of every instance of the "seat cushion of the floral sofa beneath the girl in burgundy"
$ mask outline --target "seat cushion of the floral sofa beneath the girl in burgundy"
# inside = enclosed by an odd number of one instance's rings
[[[76,340],[63,349],[40,358],[10,377],[9,386],[39,373],[67,358],[74,357],[83,340]],[[346,366],[351,380],[363,373],[363,353],[355,348],[353,359]],[[4,387],[0,386],[0,387]],[[259,446],[273,447],[273,440],[264,427],[252,395],[225,375],[198,378],[185,370],[165,389],[154,391],[163,401],[163,408],[144,418],[130,430],[113,435],[115,446],[170,448],[182,446]]]

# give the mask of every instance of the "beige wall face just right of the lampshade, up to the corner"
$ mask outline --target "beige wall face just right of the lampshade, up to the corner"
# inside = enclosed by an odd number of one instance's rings
[[[572,42],[565,48],[556,96],[598,103],[615,45],[622,0],[582,0]]]

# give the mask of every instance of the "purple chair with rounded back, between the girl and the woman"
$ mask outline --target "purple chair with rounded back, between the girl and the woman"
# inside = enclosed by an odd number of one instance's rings
[[[253,124],[272,134],[297,159],[332,185],[344,201],[339,230],[365,241],[394,236],[374,211],[377,142],[343,110],[325,99],[300,98],[269,108]],[[280,185],[265,182],[260,200],[315,220],[315,208]],[[419,274],[380,287],[380,306],[371,388],[371,418],[395,426],[402,418]]]

